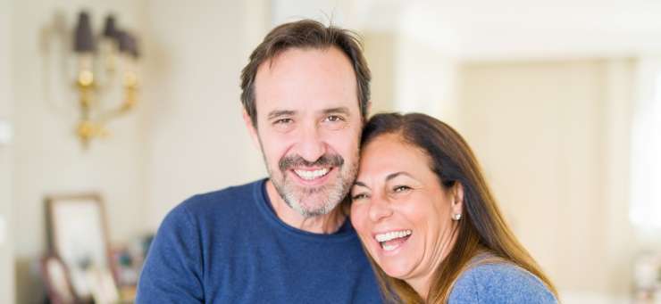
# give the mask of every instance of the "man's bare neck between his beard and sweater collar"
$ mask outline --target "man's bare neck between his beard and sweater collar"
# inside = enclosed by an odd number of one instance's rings
[[[271,180],[266,181],[266,194],[269,196],[275,215],[285,224],[303,231],[314,234],[333,234],[339,230],[347,218],[339,206],[329,214],[305,218],[297,210],[291,209],[287,202],[280,197],[280,193],[275,189]]]

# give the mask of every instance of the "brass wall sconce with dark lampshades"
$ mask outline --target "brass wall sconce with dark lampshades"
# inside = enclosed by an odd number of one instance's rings
[[[105,125],[110,119],[130,111],[138,102],[138,43],[136,37],[117,28],[113,15],[105,18],[104,31],[95,37],[87,12],[79,13],[73,41],[73,51],[78,57],[75,86],[80,105],[76,131],[87,147],[92,138],[109,134]],[[123,91],[121,103],[101,104],[98,95],[117,86]]]

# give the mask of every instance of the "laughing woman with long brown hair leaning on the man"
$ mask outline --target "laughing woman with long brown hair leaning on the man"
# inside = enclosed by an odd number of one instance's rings
[[[363,132],[351,221],[390,302],[555,303],[498,210],[473,152],[424,114],[378,114]]]

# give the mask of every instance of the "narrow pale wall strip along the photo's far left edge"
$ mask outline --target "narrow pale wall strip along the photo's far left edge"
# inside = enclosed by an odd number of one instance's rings
[[[11,125],[12,85],[11,12],[8,0],[0,0],[0,123]],[[12,145],[0,142],[0,303],[13,303]]]

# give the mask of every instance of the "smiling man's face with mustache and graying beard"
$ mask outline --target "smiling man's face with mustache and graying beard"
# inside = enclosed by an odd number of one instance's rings
[[[354,70],[334,47],[292,48],[257,70],[251,133],[280,197],[305,218],[333,210],[356,178],[356,92]]]

